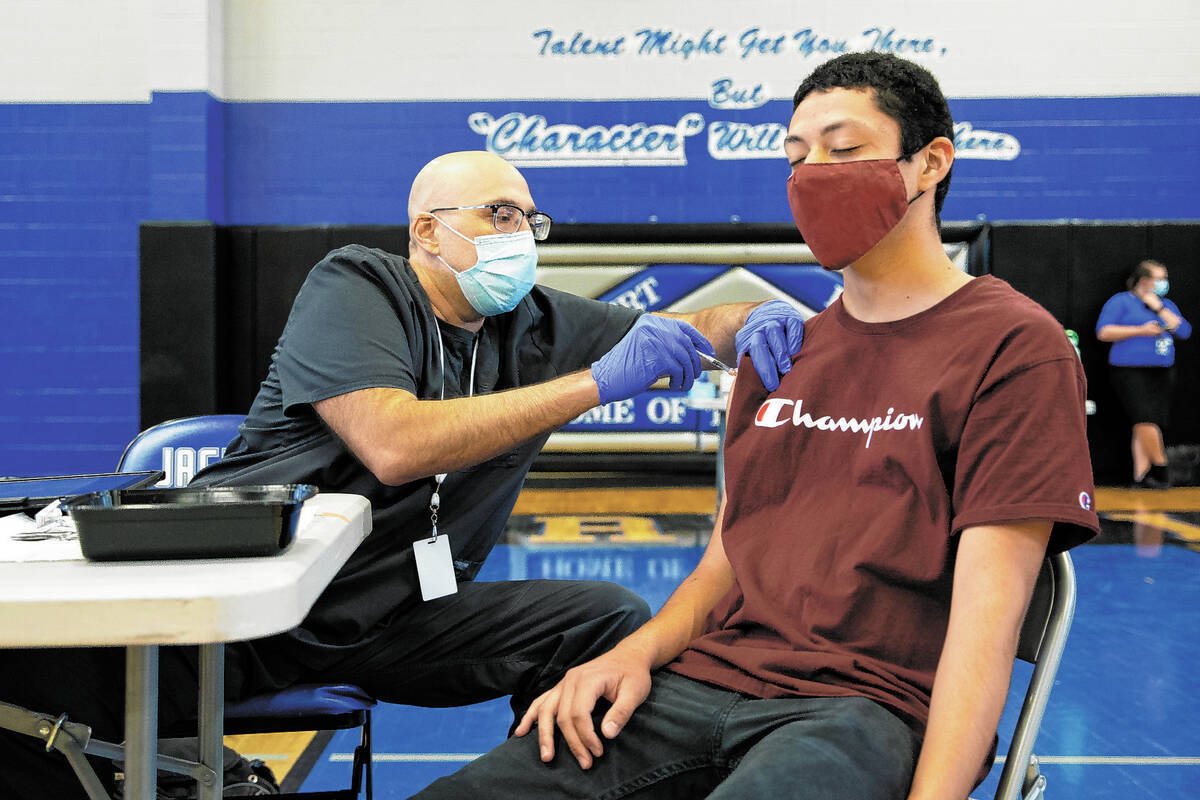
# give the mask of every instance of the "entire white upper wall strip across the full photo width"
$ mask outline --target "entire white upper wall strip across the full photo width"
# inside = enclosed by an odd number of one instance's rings
[[[721,79],[770,100],[826,58],[798,52],[804,30],[850,49],[869,48],[870,30],[929,41],[913,58],[950,97],[1200,94],[1196,0],[1139,0],[1135,10],[1122,0],[0,0],[0,13],[4,101],[142,101],[152,90],[695,100]],[[670,31],[668,52],[640,52],[646,29]],[[725,37],[721,53],[678,50],[706,31],[709,42]],[[576,34],[624,44],[608,55],[553,53]],[[778,48],[743,56],[751,38],[780,36]]]

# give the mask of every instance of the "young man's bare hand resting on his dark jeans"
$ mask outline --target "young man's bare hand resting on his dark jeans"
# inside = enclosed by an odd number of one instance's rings
[[[569,669],[558,686],[529,706],[514,734],[523,736],[538,722],[541,760],[554,758],[557,722],[566,746],[582,769],[604,754],[604,744],[592,724],[592,711],[601,697],[612,703],[600,730],[606,739],[620,733],[634,710],[650,693],[650,660],[630,646],[617,645],[605,655]]]

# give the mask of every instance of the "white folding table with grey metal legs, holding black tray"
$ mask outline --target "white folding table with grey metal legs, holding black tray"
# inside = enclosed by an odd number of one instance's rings
[[[194,774],[200,799],[216,800],[222,789],[224,643],[299,625],[370,531],[366,498],[318,494],[305,503],[293,542],[272,557],[0,560],[0,648],[124,645],[125,796],[154,800],[158,646],[200,645],[200,764]],[[7,552],[12,558],[11,547]],[[35,735],[44,736],[47,723],[38,724]]]

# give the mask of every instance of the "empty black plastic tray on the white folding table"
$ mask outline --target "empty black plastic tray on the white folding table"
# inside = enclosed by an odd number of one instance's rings
[[[64,504],[95,561],[274,555],[290,543],[307,483],[94,492]]]

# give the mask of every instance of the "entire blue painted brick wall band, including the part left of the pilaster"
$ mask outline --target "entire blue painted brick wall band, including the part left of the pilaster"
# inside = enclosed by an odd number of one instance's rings
[[[108,470],[138,425],[138,223],[401,223],[431,156],[479,149],[469,114],[580,126],[698,113],[786,122],[791,104],[702,102],[0,104],[0,475]],[[955,166],[944,218],[1200,218],[1200,97],[952,102],[955,119],[1015,137],[1015,161]],[[526,170],[562,221],[786,221],[785,166]],[[180,332],[186,336],[186,331]]]

